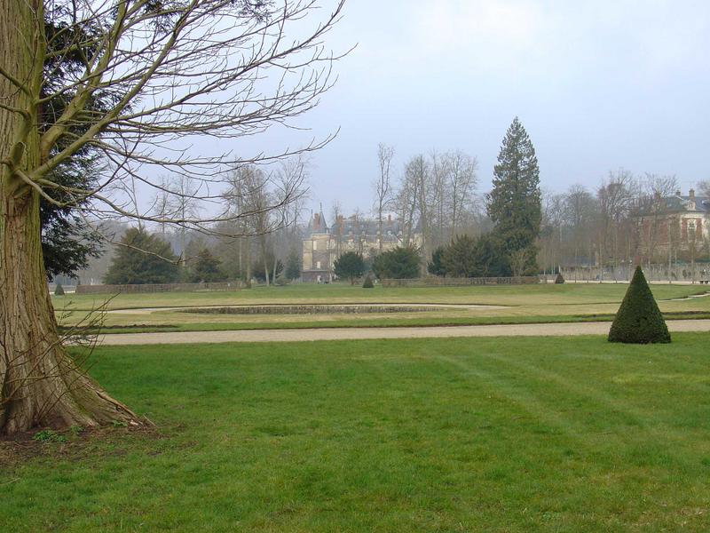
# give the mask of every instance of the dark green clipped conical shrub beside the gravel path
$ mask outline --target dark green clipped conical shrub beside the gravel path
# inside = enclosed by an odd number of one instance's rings
[[[609,342],[648,344],[670,342],[666,321],[660,314],[641,267],[636,267],[627,294],[609,330]]]

